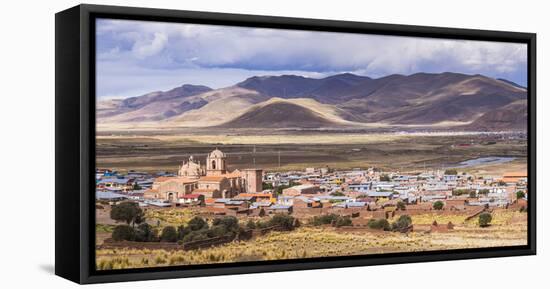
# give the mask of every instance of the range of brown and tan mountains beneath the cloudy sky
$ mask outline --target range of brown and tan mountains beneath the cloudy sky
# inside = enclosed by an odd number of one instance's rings
[[[221,89],[185,84],[100,100],[97,123],[106,128],[522,130],[526,100],[526,89],[511,81],[451,72],[254,76]]]

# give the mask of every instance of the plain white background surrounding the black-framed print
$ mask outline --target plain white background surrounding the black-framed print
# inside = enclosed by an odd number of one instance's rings
[[[89,1],[96,4],[416,24],[538,34],[538,176],[550,168],[549,7],[545,1]],[[2,1],[0,16],[0,287],[69,288],[54,266],[54,13],[77,1]],[[546,108],[546,109],[545,109]],[[538,186],[538,256],[100,285],[105,288],[541,288],[550,252]],[[76,192],[75,192],[76,193]],[[545,226],[546,230],[543,230]],[[546,274],[545,274],[546,273]],[[537,286],[538,285],[538,286]],[[94,285],[95,287],[95,285]],[[31,287],[32,288],[32,287]]]

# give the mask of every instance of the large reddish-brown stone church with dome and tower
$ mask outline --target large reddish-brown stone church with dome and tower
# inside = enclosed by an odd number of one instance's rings
[[[191,156],[182,162],[177,176],[155,179],[144,198],[178,203],[188,194],[232,198],[240,193],[257,193],[262,191],[262,173],[261,169],[229,172],[227,155],[215,149],[207,155],[205,165]]]

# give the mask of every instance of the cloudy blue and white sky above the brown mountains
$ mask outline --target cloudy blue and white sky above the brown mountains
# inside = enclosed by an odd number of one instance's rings
[[[527,45],[135,20],[96,20],[99,99],[183,84],[222,88],[251,76],[372,78],[457,72],[525,86]]]

